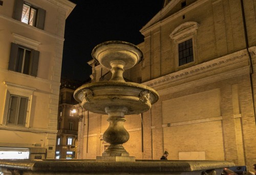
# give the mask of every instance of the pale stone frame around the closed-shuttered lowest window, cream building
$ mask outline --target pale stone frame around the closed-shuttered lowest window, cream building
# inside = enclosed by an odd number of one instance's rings
[[[12,95],[19,95],[23,97],[28,97],[28,108],[27,108],[27,115],[25,120],[25,126],[11,126],[11,127],[29,127],[29,121],[30,121],[30,113],[31,113],[31,105],[32,105],[32,97],[33,92],[36,90],[34,88],[30,88],[28,86],[18,85],[10,82],[5,82],[7,86],[6,91],[6,100],[5,100],[5,111],[4,111],[4,117],[3,117],[3,125],[7,125],[7,119],[8,119],[8,108],[10,104],[10,96]]]

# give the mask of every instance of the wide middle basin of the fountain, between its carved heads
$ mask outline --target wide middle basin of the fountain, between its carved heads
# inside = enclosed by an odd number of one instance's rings
[[[83,99],[84,89],[95,92],[92,101]],[[140,101],[140,92],[150,92],[150,99],[143,103]],[[108,93],[109,92],[109,93]],[[140,114],[148,111],[152,104],[158,101],[158,93],[143,84],[121,81],[99,81],[83,84],[74,92],[74,98],[82,104],[86,110],[98,114],[106,114],[106,106],[126,106],[128,111],[125,115]]]

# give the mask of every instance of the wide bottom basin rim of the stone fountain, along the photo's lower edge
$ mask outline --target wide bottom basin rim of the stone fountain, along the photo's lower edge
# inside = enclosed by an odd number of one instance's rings
[[[136,160],[114,162],[95,160],[0,160],[5,174],[221,174],[223,168],[234,166],[228,161],[162,161]]]

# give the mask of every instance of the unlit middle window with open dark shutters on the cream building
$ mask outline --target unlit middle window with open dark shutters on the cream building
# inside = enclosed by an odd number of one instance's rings
[[[8,70],[36,77],[38,60],[38,51],[12,42]]]

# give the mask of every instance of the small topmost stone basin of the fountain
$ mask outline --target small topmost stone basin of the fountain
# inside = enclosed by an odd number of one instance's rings
[[[143,53],[130,42],[112,40],[97,45],[92,51],[92,57],[107,69],[112,68],[112,61],[122,60],[125,62],[123,69],[126,70],[141,62]]]

